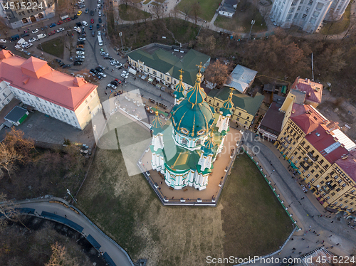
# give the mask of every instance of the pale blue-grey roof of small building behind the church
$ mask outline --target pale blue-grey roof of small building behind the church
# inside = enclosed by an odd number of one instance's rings
[[[229,87],[234,87],[241,93],[244,93],[251,81],[256,77],[257,71],[245,68],[242,65],[236,65],[236,68],[231,72],[231,83]]]

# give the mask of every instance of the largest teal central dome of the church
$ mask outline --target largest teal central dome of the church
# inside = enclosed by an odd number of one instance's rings
[[[214,122],[213,111],[206,102],[194,105],[187,99],[172,110],[172,123],[176,132],[188,137],[199,137],[209,132]]]

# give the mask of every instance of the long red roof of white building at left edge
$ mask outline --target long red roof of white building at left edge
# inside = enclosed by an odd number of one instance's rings
[[[6,52],[0,51],[0,80],[69,110],[75,111],[98,87],[82,78],[53,70],[41,59],[31,57],[26,60]]]

